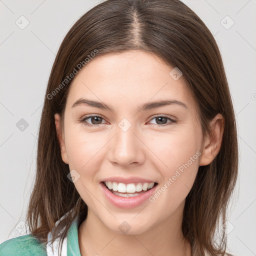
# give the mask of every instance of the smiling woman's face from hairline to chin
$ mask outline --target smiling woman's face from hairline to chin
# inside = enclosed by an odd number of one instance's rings
[[[61,132],[55,114],[75,188],[89,214],[112,231],[126,221],[129,233],[142,233],[180,215],[196,177],[202,130],[195,101],[172,69],[139,50],[95,57],[72,80]],[[136,199],[114,195],[102,183],[109,179],[120,189],[118,183],[157,184]]]

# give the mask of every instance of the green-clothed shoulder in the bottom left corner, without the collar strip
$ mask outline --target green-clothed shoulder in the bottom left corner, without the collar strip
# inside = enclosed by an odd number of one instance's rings
[[[46,248],[31,234],[18,236],[0,244],[1,256],[46,256]]]

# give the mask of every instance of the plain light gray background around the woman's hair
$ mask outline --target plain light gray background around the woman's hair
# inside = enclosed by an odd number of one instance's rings
[[[256,1],[183,1],[218,43],[237,118],[239,180],[228,213],[229,251],[256,255]],[[0,0],[0,242],[25,232],[38,125],[55,54],[71,25],[99,2]],[[24,29],[15,23],[21,25],[21,15],[29,21]]]

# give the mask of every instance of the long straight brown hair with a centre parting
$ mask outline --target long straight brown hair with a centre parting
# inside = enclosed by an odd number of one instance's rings
[[[224,226],[226,221],[237,178],[234,111],[217,44],[203,21],[179,0],[106,0],[82,15],[67,32],[53,63],[44,98],[36,177],[27,210],[29,229],[45,242],[47,232],[67,211],[73,209],[74,214],[60,222],[65,228],[61,238],[66,236],[74,217],[79,216],[79,221],[86,218],[87,205],[67,178],[70,170],[61,159],[53,115],[63,116],[72,80],[66,77],[74,69],[79,71],[79,63],[85,66],[86,58],[93,61],[91,52],[97,51],[98,57],[131,49],[156,54],[182,71],[197,103],[204,135],[217,113],[225,119],[220,151],[210,164],[199,166],[185,200],[182,221],[182,232],[192,246],[192,255],[224,255],[225,229],[218,243],[215,234],[218,225]]]

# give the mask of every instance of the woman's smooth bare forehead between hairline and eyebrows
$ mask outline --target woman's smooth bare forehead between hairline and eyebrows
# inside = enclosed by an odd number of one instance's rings
[[[193,99],[182,76],[175,80],[169,74],[173,68],[158,56],[141,50],[96,56],[73,78],[67,105],[81,97],[111,105],[164,98],[192,105]]]

